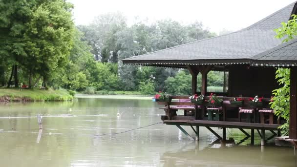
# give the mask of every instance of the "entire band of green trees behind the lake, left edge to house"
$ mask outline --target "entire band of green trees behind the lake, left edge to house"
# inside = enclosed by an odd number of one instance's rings
[[[215,36],[201,22],[136,20],[128,26],[121,13],[109,13],[76,27],[72,8],[64,0],[0,1],[2,86],[191,93],[186,70],[123,65],[121,60]],[[222,87],[222,73],[209,73],[209,85]]]

